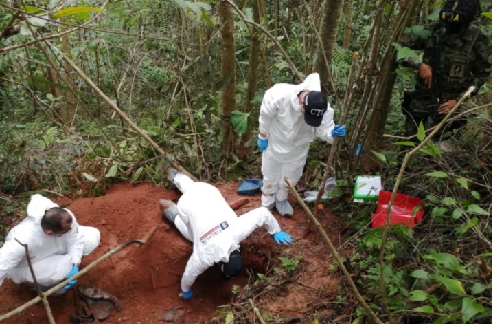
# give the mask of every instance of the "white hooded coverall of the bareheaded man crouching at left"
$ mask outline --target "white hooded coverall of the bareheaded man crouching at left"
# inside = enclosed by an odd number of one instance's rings
[[[100,244],[100,231],[89,226],[77,224],[72,217],[71,230],[60,236],[47,235],[41,228],[41,218],[45,210],[58,207],[50,199],[42,195],[33,195],[27,205],[27,217],[14,226],[0,248],[0,285],[8,277],[15,283],[33,283],[32,275],[27,265],[25,249],[27,244],[32,267],[38,284],[54,285],[63,281],[72,270],[73,263],[80,263],[82,255],[89,255]]]

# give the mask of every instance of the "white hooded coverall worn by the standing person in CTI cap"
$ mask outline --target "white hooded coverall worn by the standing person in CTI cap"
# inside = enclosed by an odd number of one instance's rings
[[[312,127],[304,120],[298,94],[321,91],[318,73],[310,74],[299,85],[279,83],[268,89],[260,106],[259,130],[267,134],[268,146],[262,153],[262,206],[271,207],[275,200],[288,198],[289,187],[284,181],[297,184],[303,173],[310,142],[321,138],[332,144],[334,109],[328,104],[322,124]]]

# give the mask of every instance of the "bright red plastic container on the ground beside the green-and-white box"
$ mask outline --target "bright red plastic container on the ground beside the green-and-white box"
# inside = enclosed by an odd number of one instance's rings
[[[387,206],[389,206],[391,195],[392,193],[390,191],[380,190],[378,193],[376,213],[371,215],[372,228],[385,225],[385,221],[387,220]],[[415,224],[421,222],[424,214],[424,208],[420,208],[417,210],[416,214],[413,215],[413,210],[416,206],[424,207],[420,198],[398,193],[392,204],[390,224],[404,223],[406,226],[413,228]]]

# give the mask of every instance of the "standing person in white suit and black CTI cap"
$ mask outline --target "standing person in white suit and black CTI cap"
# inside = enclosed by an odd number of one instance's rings
[[[288,203],[288,177],[295,186],[303,173],[310,142],[332,144],[345,136],[345,125],[334,125],[334,110],[321,93],[319,74],[299,85],[279,83],[268,89],[260,106],[258,147],[262,153],[262,206],[293,215]]]

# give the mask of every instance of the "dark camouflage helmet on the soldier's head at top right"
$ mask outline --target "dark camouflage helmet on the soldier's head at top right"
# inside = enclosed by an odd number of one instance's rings
[[[440,10],[440,21],[465,25],[479,18],[481,5],[479,0],[447,0]]]

